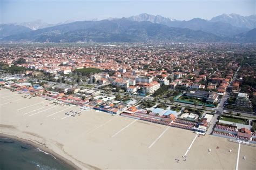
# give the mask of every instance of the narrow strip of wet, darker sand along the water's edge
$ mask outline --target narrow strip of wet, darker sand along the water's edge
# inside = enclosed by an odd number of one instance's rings
[[[41,150],[39,152],[45,152],[45,154],[46,153],[50,154],[53,158],[58,159],[59,161],[61,161],[64,164],[68,165],[72,169],[82,169],[82,168],[78,167],[77,165],[75,165],[72,161],[64,158],[62,155],[59,155],[59,154],[53,152],[48,147],[36,144],[35,142],[33,142],[31,140],[19,138],[17,136],[9,135],[9,134],[4,134],[4,133],[0,133],[0,138],[9,138],[9,139],[12,139],[12,140],[17,140],[17,141],[22,142],[24,144],[28,144],[28,145],[31,145],[31,146],[33,146],[35,148],[39,148]]]

